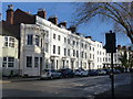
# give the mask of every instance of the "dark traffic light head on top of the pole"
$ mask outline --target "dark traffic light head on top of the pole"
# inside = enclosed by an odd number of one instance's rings
[[[116,47],[115,47],[115,33],[112,33],[112,31],[110,31],[110,33],[105,34],[105,50],[108,53],[115,53],[116,52]]]

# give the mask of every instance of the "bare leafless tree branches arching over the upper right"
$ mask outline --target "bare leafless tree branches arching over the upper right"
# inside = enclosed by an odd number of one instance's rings
[[[116,32],[124,32],[133,44],[133,2],[76,3],[75,25],[89,22],[96,15],[102,21],[113,20]],[[106,20],[108,19],[108,20]]]

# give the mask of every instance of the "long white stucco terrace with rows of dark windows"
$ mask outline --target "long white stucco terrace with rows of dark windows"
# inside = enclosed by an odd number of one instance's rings
[[[105,54],[102,43],[40,16],[35,18],[35,24],[21,23],[20,52],[22,75],[34,76],[43,68],[102,68]]]

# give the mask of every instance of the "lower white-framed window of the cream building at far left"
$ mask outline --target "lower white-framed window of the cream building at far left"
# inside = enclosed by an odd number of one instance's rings
[[[14,57],[3,57],[2,67],[14,67]]]

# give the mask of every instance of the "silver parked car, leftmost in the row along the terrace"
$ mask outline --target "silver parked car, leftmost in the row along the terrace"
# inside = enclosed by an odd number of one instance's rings
[[[41,79],[44,79],[44,78],[53,79],[53,78],[60,78],[60,77],[61,77],[61,73],[54,69],[43,69],[41,72]]]

